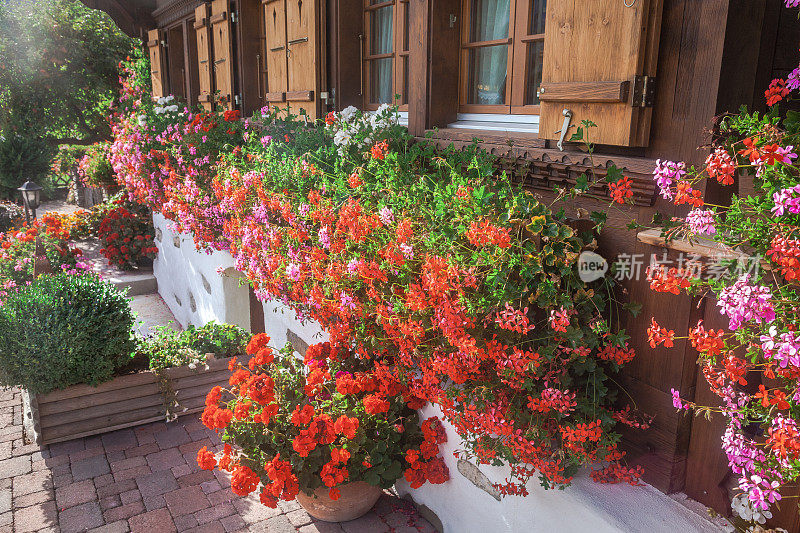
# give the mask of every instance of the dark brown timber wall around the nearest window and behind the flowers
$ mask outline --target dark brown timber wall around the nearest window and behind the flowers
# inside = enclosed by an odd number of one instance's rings
[[[337,0],[333,4],[331,21],[336,34],[332,62],[341,72],[334,73],[333,78],[337,107],[360,106],[360,71],[352,58],[360,50],[356,39],[363,33],[363,22],[342,16],[358,10],[360,2]],[[647,224],[656,211],[678,214],[674,206],[656,198],[652,182],[655,160],[702,163],[712,141],[715,117],[743,104],[763,108],[763,91],[772,76],[785,75],[797,63],[797,21],[781,4],[779,0],[663,1],[649,139],[638,148],[599,146],[594,155],[595,171],[600,175],[606,164],[613,162],[635,182],[636,205],[622,215],[610,214],[610,223],[601,235],[605,257],[638,254],[644,263],[644,277],[651,255],[660,258],[667,252],[639,242],[635,232],[625,228],[632,219]],[[501,157],[502,168],[547,198],[547,189],[574,181],[590,167],[588,157],[578,147],[561,152],[554,141],[537,135],[510,136],[447,127],[456,121],[458,113],[461,35],[450,21],[461,15],[461,6],[459,0],[409,2],[409,130],[420,138],[430,135],[441,146],[458,147],[474,138],[482,139],[487,150]],[[730,191],[710,189],[708,194],[724,200],[722,197]],[[587,201],[579,207],[597,209],[602,205]],[[672,349],[651,349],[646,341],[651,316],[685,336],[701,318],[707,323],[718,322],[718,317],[716,321],[711,317],[716,308],[713,302],[656,294],[643,280],[624,285],[626,297],[641,303],[642,311],[640,319],[624,324],[637,357],[624,371],[622,381],[637,407],[655,415],[650,430],[625,432],[625,447],[635,462],[644,465],[648,482],[667,493],[685,491],[729,514],[731,477],[720,449],[721,421],[692,420],[672,407],[671,388],[680,390],[687,399],[696,395],[701,402],[715,401],[704,378],[698,375],[697,353],[685,340],[677,341]],[[791,530],[797,531],[797,513],[791,508],[788,513],[794,517]]]

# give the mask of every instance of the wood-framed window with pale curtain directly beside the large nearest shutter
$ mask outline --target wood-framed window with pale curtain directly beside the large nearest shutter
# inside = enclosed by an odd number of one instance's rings
[[[459,111],[537,114],[546,0],[464,0]]]

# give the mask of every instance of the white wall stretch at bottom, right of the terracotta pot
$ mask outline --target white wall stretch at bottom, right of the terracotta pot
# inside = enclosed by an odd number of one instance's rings
[[[438,408],[428,406],[420,418],[442,418]],[[396,484],[399,494],[411,496],[427,506],[442,521],[446,533],[689,533],[726,531],[720,524],[650,485],[606,485],[592,481],[587,473],[575,477],[565,490],[544,490],[534,478],[529,495],[506,496],[500,501],[462,476],[453,452],[462,448],[452,426],[445,422],[447,442],[442,457],[450,469],[450,480],[442,485],[426,483],[412,489],[405,480]],[[479,470],[491,482],[502,483],[507,467],[482,465]]]

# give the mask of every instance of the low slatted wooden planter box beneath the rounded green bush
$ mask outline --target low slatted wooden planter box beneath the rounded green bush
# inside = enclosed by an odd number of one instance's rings
[[[208,370],[188,367],[165,370],[175,399],[181,405],[174,412],[181,416],[202,411],[208,391],[216,385],[228,385],[229,361],[230,358],[209,357]],[[98,435],[166,417],[158,376],[152,371],[120,376],[97,387],[74,385],[47,394],[26,390],[23,404],[25,431],[39,445]]]

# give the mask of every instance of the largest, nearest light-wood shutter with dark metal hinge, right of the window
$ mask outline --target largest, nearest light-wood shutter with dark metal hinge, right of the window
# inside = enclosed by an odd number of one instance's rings
[[[647,146],[663,0],[550,0],[539,137],[559,139],[565,110],[591,120],[590,140]]]

